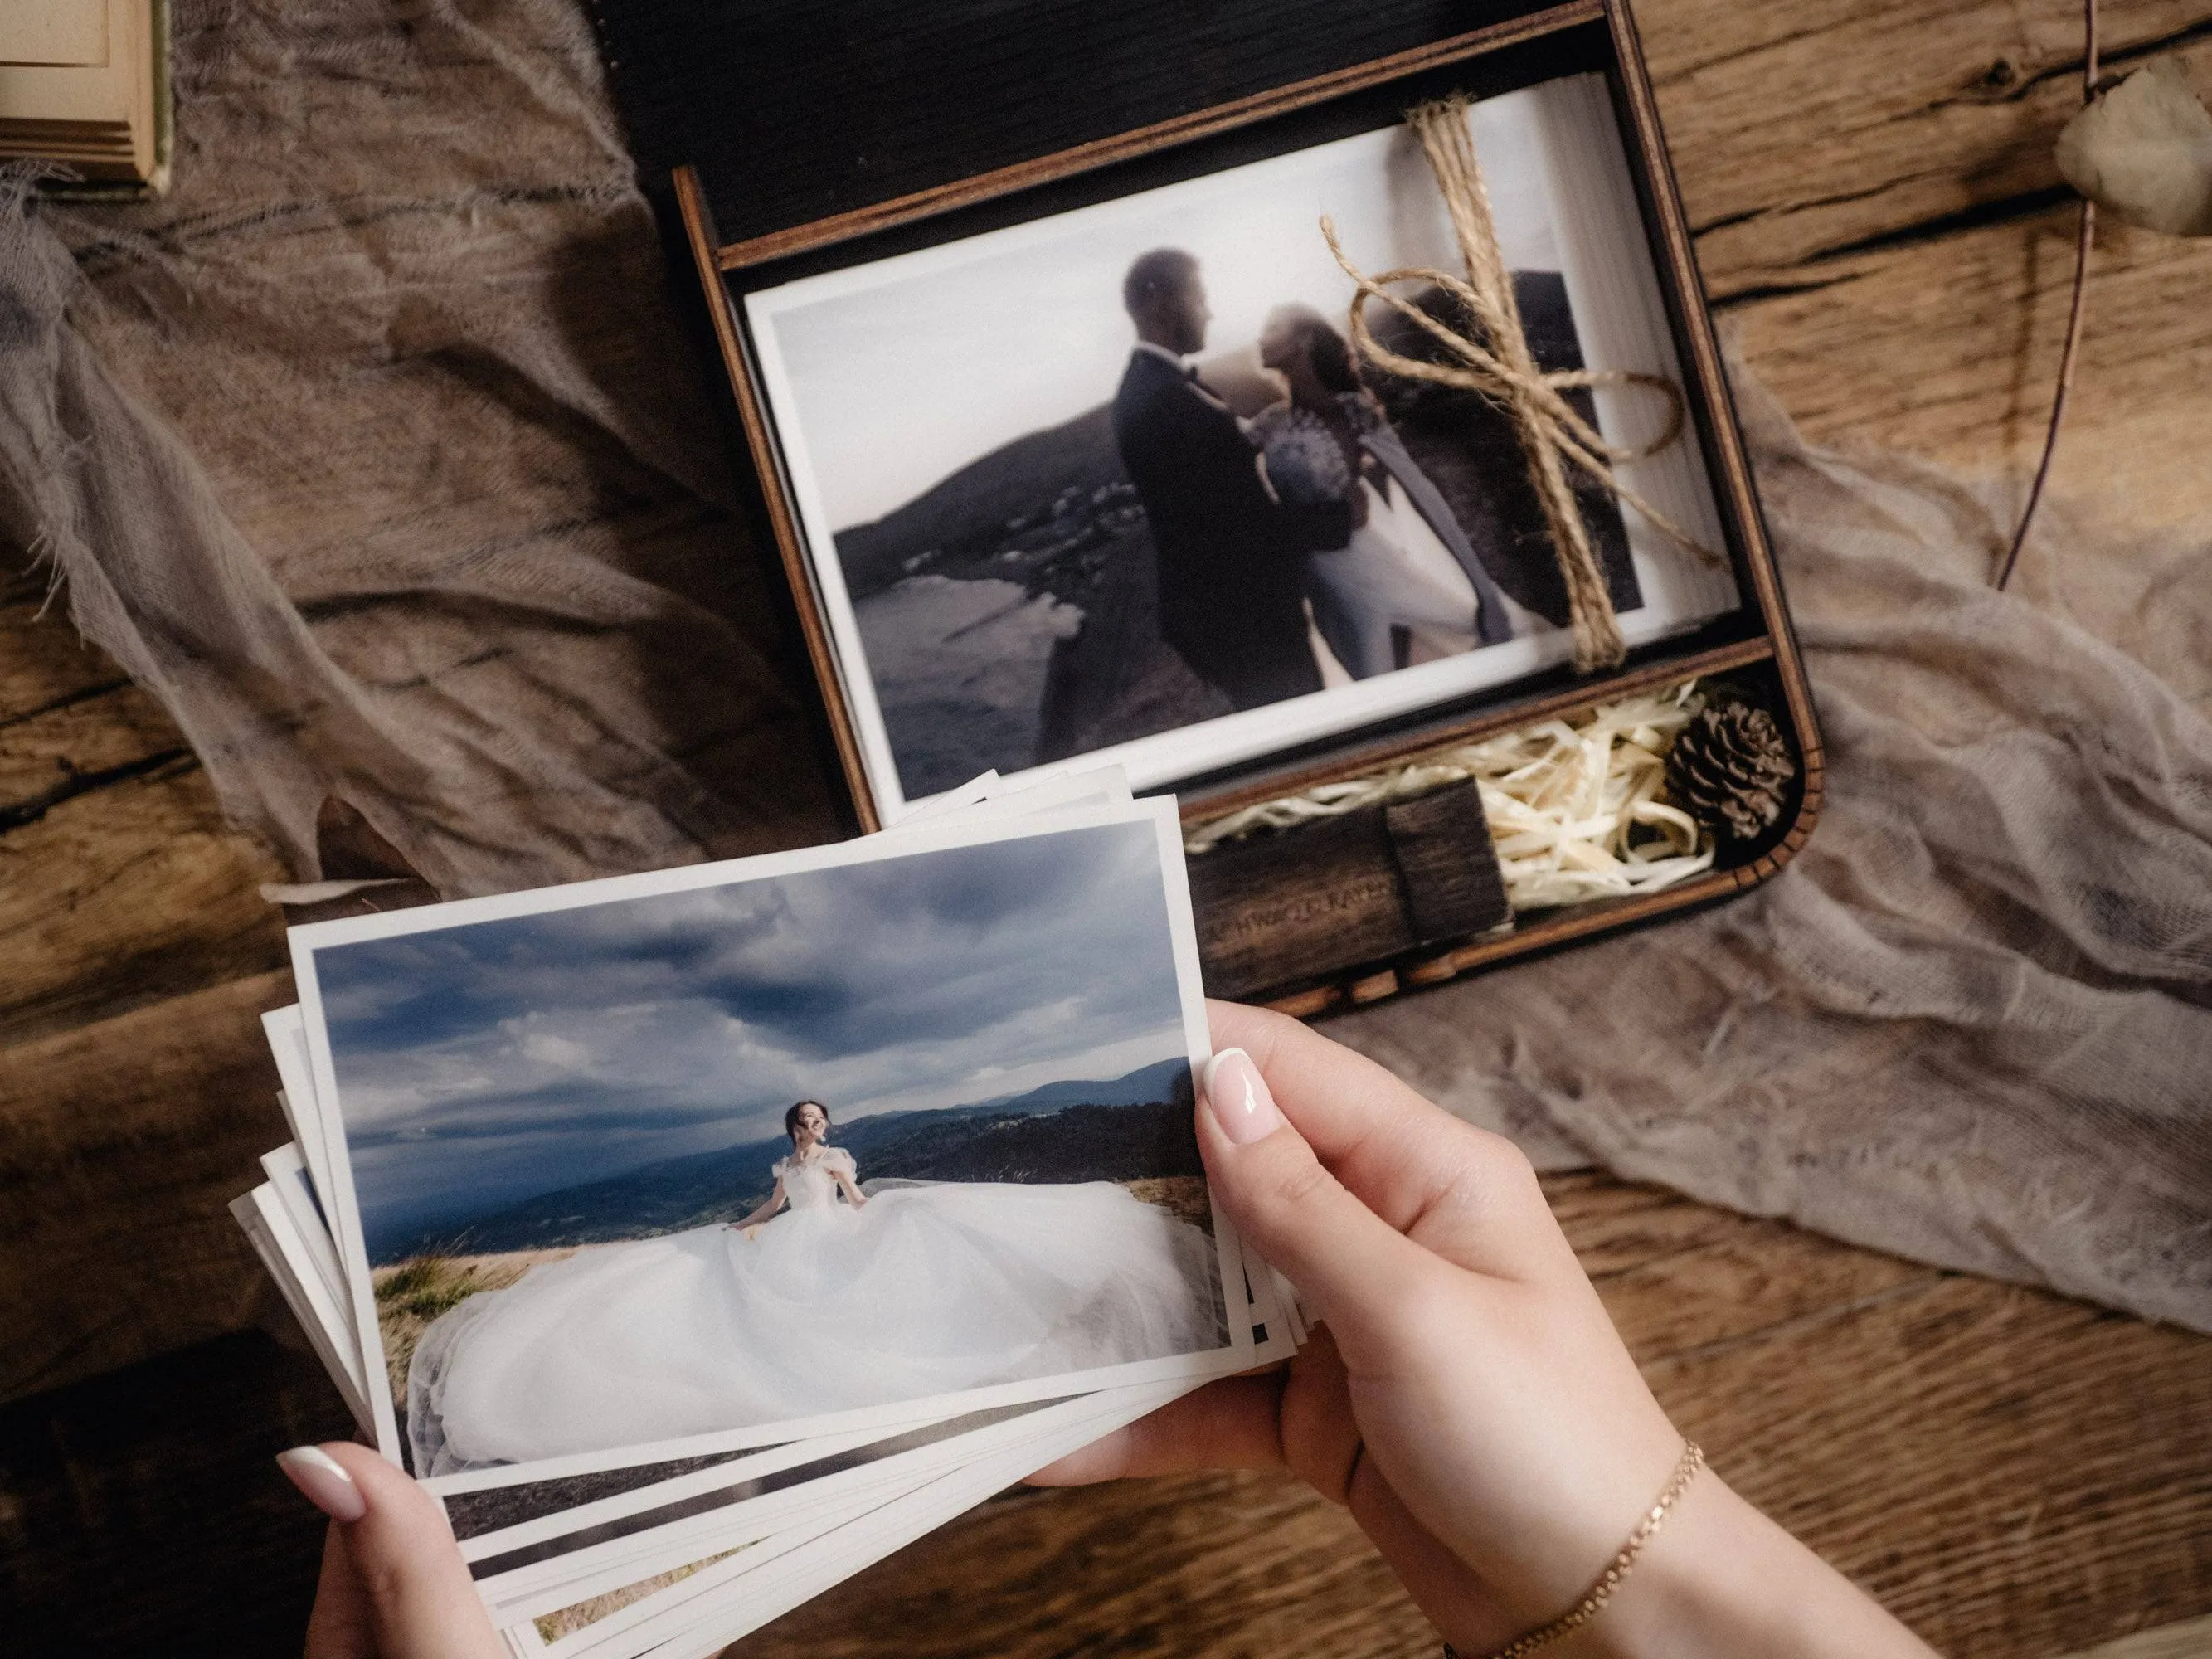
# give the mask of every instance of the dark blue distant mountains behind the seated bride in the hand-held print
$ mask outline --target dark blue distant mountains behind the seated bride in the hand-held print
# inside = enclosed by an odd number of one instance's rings
[[[832,1126],[830,1139],[854,1155],[863,1181],[1139,1181],[1201,1172],[1190,1062],[1181,1057],[969,1106],[878,1113]],[[467,1225],[416,1232],[376,1259],[553,1250],[732,1221],[768,1197],[770,1166],[790,1150],[776,1135],[661,1159],[542,1192]]]

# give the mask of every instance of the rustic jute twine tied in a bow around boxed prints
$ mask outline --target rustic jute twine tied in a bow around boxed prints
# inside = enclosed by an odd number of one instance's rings
[[[1327,239],[1329,252],[1336,254],[1336,263],[1343,265],[1345,276],[1358,288],[1349,316],[1352,343],[1360,356],[1387,374],[1475,392],[1513,420],[1522,453],[1528,458],[1528,480],[1535,484],[1537,504],[1544,509],[1544,522],[1551,529],[1559,575],[1566,580],[1568,622],[1575,635],[1575,670],[1617,668],[1628,657],[1628,641],[1621,639],[1613,595],[1606,591],[1606,573],[1597,564],[1590,533],[1582,522],[1582,511],[1575,507],[1575,491],[1566,482],[1566,462],[1573,462],[1599,487],[1635,507],[1670,542],[1677,542],[1708,564],[1719,564],[1717,553],[1701,546],[1697,538],[1668,520],[1666,513],[1624,484],[1613,471],[1615,462],[1644,460],[1681,436],[1681,387],[1663,374],[1641,374],[1635,369],[1540,369],[1535,354],[1528,349],[1520,301],[1513,296],[1513,274],[1506,270],[1504,254],[1498,248],[1491,197],[1482,184],[1475,142],[1467,131],[1467,100],[1447,97],[1436,104],[1422,104],[1407,113],[1407,126],[1420,137],[1420,148],[1429,157],[1436,184],[1444,192],[1451,228],[1460,241],[1460,257],[1467,261],[1467,281],[1442,270],[1387,270],[1380,276],[1369,276],[1352,263],[1336,241],[1336,226],[1323,219],[1321,234]],[[1389,292],[1389,283],[1411,281],[1429,283],[1458,299],[1475,319],[1478,338],[1460,334],[1411,301]],[[1391,352],[1367,325],[1367,301],[1389,305],[1442,345],[1453,361],[1425,363]],[[1652,442],[1632,449],[1608,445],[1562,396],[1577,387],[1599,385],[1639,385],[1663,394],[1670,409],[1666,431]]]

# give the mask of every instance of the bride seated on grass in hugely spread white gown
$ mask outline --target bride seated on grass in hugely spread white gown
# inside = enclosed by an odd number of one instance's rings
[[[799,1102],[783,1124],[792,1152],[743,1221],[588,1245],[442,1314],[407,1369],[416,1473],[745,1429],[1223,1340],[1212,1241],[1110,1181],[947,1181],[863,1197],[818,1102]]]

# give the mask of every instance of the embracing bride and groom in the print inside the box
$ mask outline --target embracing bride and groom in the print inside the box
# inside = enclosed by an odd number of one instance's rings
[[[1183,363],[1212,321],[1199,261],[1141,254],[1121,303],[1137,347],[1115,442],[1152,524],[1161,633],[1201,679],[1237,708],[1321,690],[1307,606],[1354,679],[1402,668],[1416,635],[1447,653],[1511,637],[1504,595],[1325,316],[1267,316],[1261,363],[1290,398],[1239,420]]]

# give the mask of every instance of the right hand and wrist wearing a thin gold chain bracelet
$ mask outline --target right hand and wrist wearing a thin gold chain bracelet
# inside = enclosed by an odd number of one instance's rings
[[[1352,1509],[1460,1652],[1498,1648],[1584,1597],[1683,1438],[1509,1141],[1294,1020],[1210,1011],[1208,1177],[1325,1329],[1035,1480],[1287,1464]],[[1555,1652],[1927,1648],[1708,1471]]]

